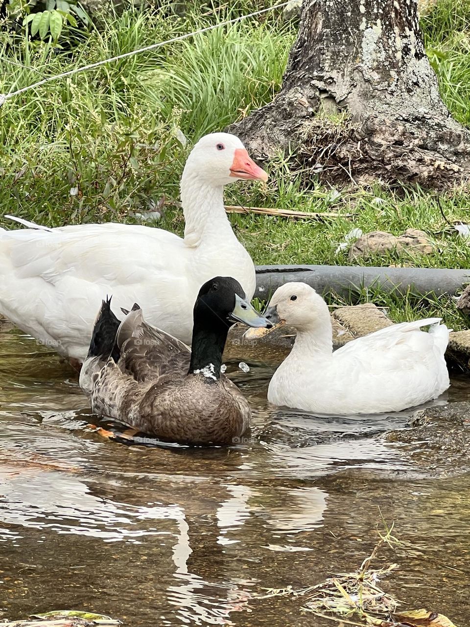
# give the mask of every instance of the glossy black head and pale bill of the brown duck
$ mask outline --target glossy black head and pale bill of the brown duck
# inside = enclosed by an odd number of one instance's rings
[[[211,325],[231,326],[243,322],[249,327],[272,326],[248,302],[240,283],[232,277],[214,277],[202,285],[194,305],[194,324],[205,320]]]

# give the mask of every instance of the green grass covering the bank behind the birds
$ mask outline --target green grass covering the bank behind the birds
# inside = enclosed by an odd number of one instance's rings
[[[194,9],[180,18],[167,8],[137,9],[107,18],[98,31],[65,31],[59,45],[0,40],[0,93],[28,85],[40,75],[74,67],[223,21],[266,3]],[[454,117],[470,125],[470,3],[442,0],[422,18],[424,39],[442,98]],[[281,85],[295,26],[268,14],[190,40],[48,83],[0,108],[0,203],[13,213],[58,226],[88,221],[133,221],[165,195],[176,199],[191,144],[221,130],[273,99]],[[13,63],[31,66],[21,68]],[[179,131],[188,139],[183,147]],[[232,214],[231,221],[256,263],[348,265],[335,250],[352,228],[401,234],[419,228],[431,236],[431,255],[410,253],[367,258],[365,265],[470,267],[470,246],[442,218],[437,197],[420,189],[302,189],[298,174],[279,156],[267,167],[268,184],[227,189],[227,203],[332,211],[335,219],[293,221]],[[70,191],[78,187],[78,194]],[[441,198],[449,221],[470,221],[470,194]],[[346,214],[353,214],[346,217]],[[182,233],[180,212],[168,210],[159,226]],[[395,320],[443,315],[455,329],[462,320],[450,299],[362,293],[362,301],[389,307]],[[333,299],[334,300],[334,299]],[[338,302],[339,299],[338,299]]]

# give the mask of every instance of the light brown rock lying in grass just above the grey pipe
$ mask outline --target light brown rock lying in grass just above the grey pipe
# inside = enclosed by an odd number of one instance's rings
[[[392,233],[385,233],[385,231],[372,231],[365,233],[355,241],[349,250],[348,258],[353,261],[377,253],[400,252],[405,248],[410,248],[412,252],[421,255],[429,255],[434,250],[427,234],[418,229],[407,229],[399,237],[392,235]]]

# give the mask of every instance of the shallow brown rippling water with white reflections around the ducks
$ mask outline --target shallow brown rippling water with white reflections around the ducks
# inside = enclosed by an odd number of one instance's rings
[[[323,627],[301,599],[251,596],[357,569],[383,515],[402,540],[377,563],[400,565],[383,587],[469,625],[468,469],[427,476],[385,440],[410,413],[269,408],[265,362],[228,369],[254,408],[246,441],[123,446],[86,430],[96,419],[58,357],[0,330],[0,619],[74,608],[143,627]],[[470,384],[454,378],[439,403],[462,399]]]

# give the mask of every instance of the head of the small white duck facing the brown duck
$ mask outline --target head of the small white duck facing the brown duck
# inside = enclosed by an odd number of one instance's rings
[[[326,317],[325,317],[326,316]],[[313,287],[306,283],[285,283],[278,287],[264,312],[271,329],[249,329],[244,337],[255,339],[266,335],[283,324],[294,327],[299,332],[315,331],[330,321],[328,306]]]

